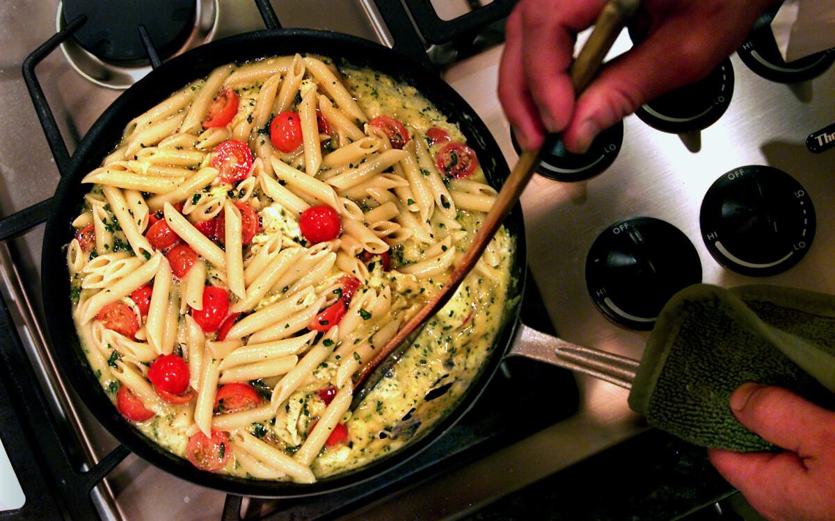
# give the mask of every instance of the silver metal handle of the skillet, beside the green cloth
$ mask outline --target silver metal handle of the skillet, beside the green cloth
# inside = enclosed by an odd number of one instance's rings
[[[635,380],[638,361],[600,349],[586,348],[552,337],[519,323],[513,348],[507,356],[533,358],[561,368],[588,374],[609,383],[630,389]]]

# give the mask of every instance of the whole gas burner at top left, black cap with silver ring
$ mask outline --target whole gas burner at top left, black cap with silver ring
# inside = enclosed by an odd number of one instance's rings
[[[148,32],[159,58],[170,58],[211,41],[218,21],[218,2],[176,0],[154,4],[153,8],[128,2],[108,4],[105,9],[101,3],[89,0],[64,0],[58,3],[58,31],[81,14],[88,20],[73,39],[61,44],[61,50],[73,68],[91,82],[108,88],[129,88],[151,71],[139,36],[140,26]],[[164,13],[160,14],[160,9]],[[146,13],[153,16],[143,17]],[[124,27],[125,20],[134,21],[130,28]],[[113,32],[113,28],[117,30]]]

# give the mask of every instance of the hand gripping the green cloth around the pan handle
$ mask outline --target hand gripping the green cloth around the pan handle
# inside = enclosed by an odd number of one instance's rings
[[[746,383],[731,394],[746,428],[785,448],[735,453],[711,448],[711,463],[766,518],[835,519],[835,412],[784,388]]]

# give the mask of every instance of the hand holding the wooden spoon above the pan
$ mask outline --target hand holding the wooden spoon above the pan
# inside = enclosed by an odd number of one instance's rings
[[[521,0],[508,19],[498,98],[522,148],[563,133],[587,150],[600,131],[730,55],[772,0],[644,0],[631,23],[641,41],[600,69],[579,99],[569,78],[577,33],[606,0]]]

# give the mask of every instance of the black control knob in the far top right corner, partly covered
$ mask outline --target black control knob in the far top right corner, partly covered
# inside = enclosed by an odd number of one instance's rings
[[[736,50],[742,62],[762,78],[779,83],[803,82],[816,78],[835,62],[835,48],[800,58],[790,63],[782,59],[774,41],[771,23],[777,10],[763,13]]]

